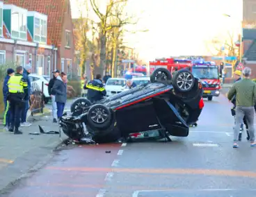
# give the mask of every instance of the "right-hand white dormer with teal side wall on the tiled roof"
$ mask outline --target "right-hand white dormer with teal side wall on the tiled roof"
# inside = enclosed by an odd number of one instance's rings
[[[28,12],[28,28],[34,42],[47,43],[47,15]]]

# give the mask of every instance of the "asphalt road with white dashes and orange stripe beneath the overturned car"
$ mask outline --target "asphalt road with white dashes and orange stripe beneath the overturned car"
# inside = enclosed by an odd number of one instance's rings
[[[256,150],[232,148],[231,104],[205,101],[198,127],[173,142],[75,146],[23,180],[10,197],[251,197]],[[105,153],[111,151],[111,153]]]

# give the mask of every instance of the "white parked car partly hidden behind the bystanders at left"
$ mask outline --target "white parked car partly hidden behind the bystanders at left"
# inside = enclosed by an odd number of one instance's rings
[[[37,74],[30,74],[29,78],[31,80],[32,87],[36,86],[38,89],[40,89],[40,92],[43,92],[44,101],[47,104],[51,99],[51,96],[48,93],[48,84],[51,78],[46,75],[40,76]],[[42,83],[43,83],[43,91],[42,91]]]

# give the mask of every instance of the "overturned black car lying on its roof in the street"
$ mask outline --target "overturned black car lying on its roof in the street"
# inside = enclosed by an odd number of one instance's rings
[[[204,106],[202,84],[189,70],[156,69],[150,83],[109,96],[97,103],[79,98],[63,114],[60,129],[70,139],[96,143],[129,139],[138,132],[157,130],[160,137],[186,137]]]

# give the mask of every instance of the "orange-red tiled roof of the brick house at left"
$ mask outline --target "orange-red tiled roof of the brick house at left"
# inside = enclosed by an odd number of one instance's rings
[[[6,0],[6,4],[14,4],[29,11],[36,11],[48,16],[47,44],[61,46],[61,33],[67,0]]]

